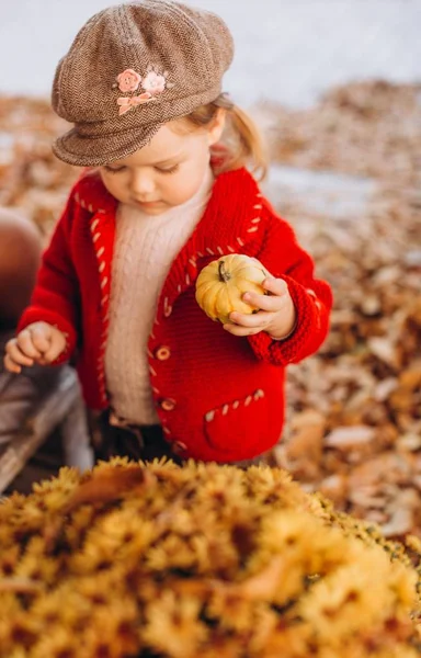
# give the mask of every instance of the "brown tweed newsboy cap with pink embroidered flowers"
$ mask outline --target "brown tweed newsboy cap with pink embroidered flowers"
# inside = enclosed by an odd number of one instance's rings
[[[224,21],[171,0],[92,16],[59,61],[53,107],[73,124],[53,150],[82,167],[141,148],[159,127],[215,100],[234,55]]]

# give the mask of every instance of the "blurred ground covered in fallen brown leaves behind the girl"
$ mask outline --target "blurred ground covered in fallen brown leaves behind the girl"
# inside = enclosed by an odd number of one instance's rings
[[[276,457],[306,488],[382,523],[387,536],[421,536],[419,94],[355,83],[308,111],[264,109],[276,116],[274,161],[377,182],[364,212],[340,220],[296,195],[277,204],[335,303],[322,350],[289,370]],[[22,208],[46,236],[78,173],[52,155],[62,127],[43,101],[0,99],[0,205]]]

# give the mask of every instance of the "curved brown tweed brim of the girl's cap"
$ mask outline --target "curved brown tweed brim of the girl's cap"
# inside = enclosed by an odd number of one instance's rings
[[[83,136],[75,127],[53,144],[53,152],[68,164],[100,167],[121,160],[143,148],[162,124],[122,131],[112,135]]]

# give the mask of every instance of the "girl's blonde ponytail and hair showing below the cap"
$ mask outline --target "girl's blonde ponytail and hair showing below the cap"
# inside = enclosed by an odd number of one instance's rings
[[[227,152],[220,158],[221,162],[216,167],[216,172],[223,173],[249,166],[255,178],[262,181],[268,173],[269,160],[259,128],[247,112],[220,99],[221,97],[218,97],[212,103],[201,105],[184,116],[183,121],[195,127],[206,127],[223,107],[226,111],[226,126],[219,145],[226,147]]]

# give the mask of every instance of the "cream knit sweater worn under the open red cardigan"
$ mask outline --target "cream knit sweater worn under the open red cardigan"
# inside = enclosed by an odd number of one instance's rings
[[[159,422],[152,401],[147,342],[170,266],[207,205],[210,168],[196,194],[161,215],[120,204],[112,266],[106,387],[115,422]]]

